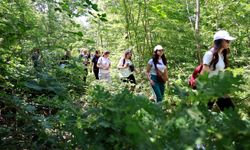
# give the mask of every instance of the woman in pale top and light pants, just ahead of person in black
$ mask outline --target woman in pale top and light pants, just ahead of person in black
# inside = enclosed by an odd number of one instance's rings
[[[99,68],[99,80],[106,80],[111,82],[110,67],[111,62],[109,60],[109,51],[105,51],[97,61],[97,67]]]

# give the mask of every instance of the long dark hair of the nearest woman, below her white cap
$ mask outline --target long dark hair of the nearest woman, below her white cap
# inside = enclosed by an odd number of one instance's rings
[[[213,58],[212,58],[212,61],[211,63],[209,64],[209,67],[213,67],[213,70],[216,69],[216,64],[218,63],[219,61],[219,50],[222,48],[222,42],[223,42],[223,39],[219,39],[219,40],[215,40],[214,41],[214,45],[213,45]],[[224,57],[224,63],[225,63],[225,68],[228,67],[229,65],[229,61],[228,61],[228,54],[230,52],[230,49],[223,49],[222,50],[222,55]]]

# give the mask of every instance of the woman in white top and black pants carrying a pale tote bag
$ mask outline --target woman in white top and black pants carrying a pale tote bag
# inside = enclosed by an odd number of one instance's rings
[[[132,52],[130,50],[125,51],[124,56],[121,57],[117,68],[119,69],[119,76],[123,82],[136,84],[134,71],[135,67],[132,63]]]

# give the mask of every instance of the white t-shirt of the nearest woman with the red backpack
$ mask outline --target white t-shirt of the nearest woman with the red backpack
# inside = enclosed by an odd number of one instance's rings
[[[211,49],[205,53],[205,55],[203,57],[203,64],[206,64],[209,66],[212,59],[213,59],[213,51]],[[212,77],[214,75],[218,75],[219,71],[223,71],[225,69],[225,62],[224,62],[223,54],[219,54],[219,61],[215,66],[216,66],[216,68],[215,68],[215,70],[213,70],[213,65],[211,65],[209,77]]]

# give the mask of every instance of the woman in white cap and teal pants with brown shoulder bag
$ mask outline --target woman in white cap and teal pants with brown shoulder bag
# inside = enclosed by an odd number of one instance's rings
[[[161,45],[155,46],[153,57],[148,61],[146,75],[155,92],[156,101],[161,102],[165,83],[168,81],[167,59]]]

